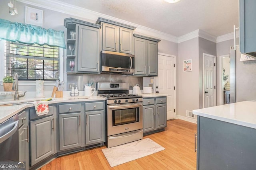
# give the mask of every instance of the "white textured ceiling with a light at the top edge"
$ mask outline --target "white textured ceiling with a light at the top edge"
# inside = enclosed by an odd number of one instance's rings
[[[180,37],[201,29],[220,36],[238,25],[238,0],[58,0]],[[71,3],[72,2],[72,3]]]

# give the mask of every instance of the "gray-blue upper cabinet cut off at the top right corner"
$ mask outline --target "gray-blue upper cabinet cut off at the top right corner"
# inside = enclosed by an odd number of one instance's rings
[[[256,59],[256,1],[239,1],[240,51]]]

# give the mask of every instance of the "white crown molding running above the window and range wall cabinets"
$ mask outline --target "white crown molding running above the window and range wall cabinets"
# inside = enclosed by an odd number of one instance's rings
[[[149,36],[156,37],[156,38],[159,38],[159,39],[165,39],[167,41],[178,43],[178,37],[176,37],[174,35],[163,33],[161,31],[157,31],[155,29],[144,27],[142,25],[131,23],[131,22],[128,22],[128,21],[125,21],[125,20],[120,20],[118,18],[111,17],[111,16],[108,16],[108,15],[105,15],[105,14],[101,14],[99,12],[94,12],[94,11],[91,11],[91,10],[87,10],[85,8],[81,8],[81,7],[78,7],[78,6],[67,4],[67,3],[64,3],[64,2],[60,2],[58,0],[54,0],[54,1],[52,1],[52,0],[16,0],[16,1],[28,4],[28,5],[32,5],[32,6],[38,6],[40,8],[46,8],[48,10],[53,10],[53,11],[56,11],[56,12],[69,14],[69,15],[72,15],[72,16],[77,16],[77,17],[80,17],[80,18],[85,18],[85,19],[90,20],[92,22],[93,21],[96,22],[99,17],[105,18],[105,19],[108,19],[108,20],[113,20],[113,21],[116,21],[116,22],[124,23],[124,24],[127,24],[127,25],[132,25],[132,26],[136,27],[136,29],[134,30],[134,32],[136,32],[136,33],[140,33],[140,34],[143,34],[143,35],[149,35]]]

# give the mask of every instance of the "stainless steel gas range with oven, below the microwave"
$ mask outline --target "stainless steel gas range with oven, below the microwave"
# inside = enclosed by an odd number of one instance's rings
[[[106,98],[106,146],[143,138],[142,96],[128,94],[129,83],[99,82],[98,95]]]

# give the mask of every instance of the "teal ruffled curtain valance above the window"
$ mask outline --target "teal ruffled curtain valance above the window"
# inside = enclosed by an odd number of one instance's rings
[[[66,49],[64,32],[0,19],[0,39]]]

